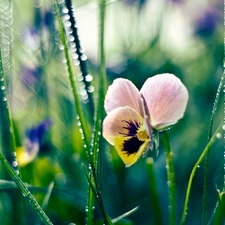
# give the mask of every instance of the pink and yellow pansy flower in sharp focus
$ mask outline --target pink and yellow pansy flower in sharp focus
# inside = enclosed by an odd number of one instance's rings
[[[148,78],[140,91],[127,79],[115,79],[105,97],[103,136],[131,166],[153,147],[154,131],[183,117],[187,100],[186,87],[173,74]]]

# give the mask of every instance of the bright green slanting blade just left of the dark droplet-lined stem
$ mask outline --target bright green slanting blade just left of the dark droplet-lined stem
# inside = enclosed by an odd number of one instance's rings
[[[69,81],[70,81],[70,85],[71,85],[72,92],[73,92],[73,97],[74,97],[74,101],[75,101],[77,114],[78,114],[78,117],[79,117],[78,120],[81,124],[81,129],[82,129],[81,135],[83,136],[83,139],[84,139],[84,147],[87,149],[87,151],[89,151],[90,150],[90,144],[89,144],[89,140],[88,140],[88,130],[87,130],[87,126],[86,126],[86,123],[85,123],[84,114],[82,112],[82,107],[81,107],[77,87],[74,83],[74,75],[73,75],[70,56],[69,56],[69,50],[68,50],[67,43],[66,43],[66,32],[65,32],[65,29],[64,29],[64,26],[63,26],[61,15],[60,15],[58,2],[54,2],[54,7],[55,7],[55,12],[56,12],[56,18],[58,20],[58,25],[59,25],[60,39],[61,39],[61,42],[62,42],[62,45],[63,45],[63,48],[64,48],[66,65],[68,67]],[[87,152],[87,153],[88,153],[87,155],[89,156],[90,155],[89,152]]]

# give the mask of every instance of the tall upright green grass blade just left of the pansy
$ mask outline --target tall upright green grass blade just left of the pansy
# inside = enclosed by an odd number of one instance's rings
[[[98,171],[100,171],[99,177],[101,177],[101,168],[98,168],[98,158],[99,158],[99,144],[100,141],[100,134],[102,130],[102,118],[103,118],[103,104],[104,104],[104,96],[105,96],[105,89],[106,89],[106,70],[105,70],[105,52],[104,52],[104,33],[105,33],[105,0],[100,0],[99,3],[99,61],[100,61],[100,78],[99,78],[99,91],[98,91],[98,104],[97,104],[97,111],[95,115],[95,125],[94,125],[94,135],[91,143],[91,164],[93,164],[94,170],[97,174],[90,173],[90,179],[93,179],[93,176],[98,175]],[[101,156],[100,156],[100,165],[101,165]],[[90,168],[90,167],[89,167]],[[98,185],[98,183],[96,183]],[[99,187],[98,187],[99,188]],[[88,213],[87,213],[87,224],[92,224],[92,217],[93,217],[93,206],[94,206],[94,198],[91,187],[89,189],[89,198],[88,198]]]

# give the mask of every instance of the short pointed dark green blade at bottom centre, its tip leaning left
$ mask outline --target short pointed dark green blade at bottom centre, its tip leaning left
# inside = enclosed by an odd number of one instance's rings
[[[103,215],[105,225],[113,225],[112,220],[110,219],[110,217],[108,216],[108,214],[105,211],[105,208],[104,208],[104,205],[103,205],[103,201],[102,201],[102,198],[101,198],[101,194],[98,191],[95,182],[93,182],[93,180],[90,179],[90,177],[88,175],[88,172],[87,172],[86,168],[84,167],[84,165],[83,165],[83,168],[84,168],[84,173],[85,173],[85,175],[86,175],[86,177],[88,179],[88,183],[89,183],[89,185],[91,187],[91,190],[92,190],[92,192],[94,194],[95,200],[96,200],[96,202],[98,204],[98,207],[101,210],[101,213]]]

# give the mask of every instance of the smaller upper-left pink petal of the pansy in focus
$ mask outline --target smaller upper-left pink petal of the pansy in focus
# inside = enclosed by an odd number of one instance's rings
[[[118,78],[113,81],[106,93],[105,111],[109,113],[115,108],[124,106],[130,106],[140,113],[140,93],[131,81]]]

